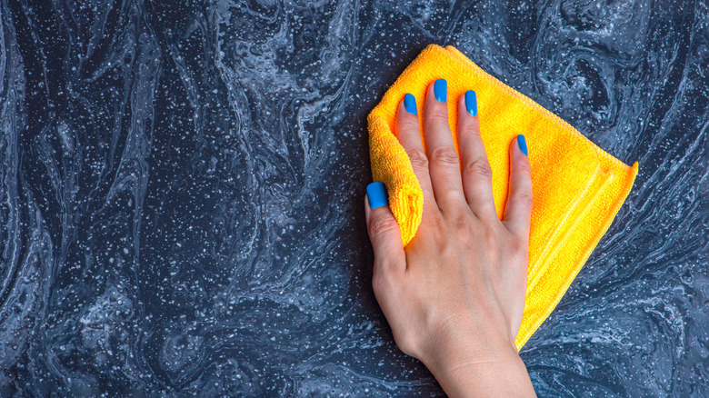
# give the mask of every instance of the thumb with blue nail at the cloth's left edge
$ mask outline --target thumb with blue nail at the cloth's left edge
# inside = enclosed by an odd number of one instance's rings
[[[369,240],[374,249],[374,273],[401,273],[406,268],[406,254],[401,230],[389,209],[384,184],[367,185],[364,217]]]

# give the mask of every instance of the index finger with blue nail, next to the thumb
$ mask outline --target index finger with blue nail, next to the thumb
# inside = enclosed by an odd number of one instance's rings
[[[421,142],[421,128],[418,124],[418,111],[414,95],[404,95],[404,100],[399,104],[396,112],[396,138],[404,151],[409,155],[409,160],[414,168],[414,174],[424,191],[424,212],[438,210],[434,200],[434,190],[431,187],[431,177],[428,174],[428,158],[424,153],[424,144]]]

